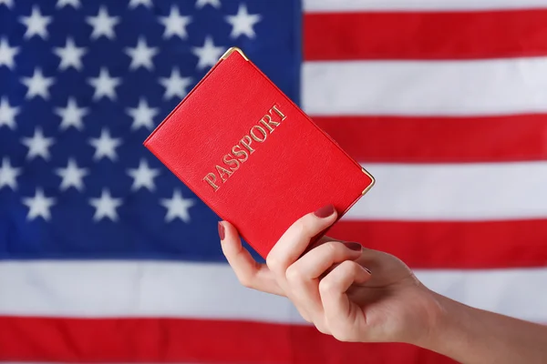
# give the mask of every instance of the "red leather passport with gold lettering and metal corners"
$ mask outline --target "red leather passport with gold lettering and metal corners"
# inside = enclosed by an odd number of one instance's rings
[[[375,182],[236,47],[144,146],[263,258],[296,219],[327,204],[340,218]]]

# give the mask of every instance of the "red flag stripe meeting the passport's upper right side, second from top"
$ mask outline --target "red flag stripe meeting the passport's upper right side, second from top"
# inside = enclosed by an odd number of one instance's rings
[[[350,156],[361,162],[495,162],[547,159],[545,114],[313,118]]]

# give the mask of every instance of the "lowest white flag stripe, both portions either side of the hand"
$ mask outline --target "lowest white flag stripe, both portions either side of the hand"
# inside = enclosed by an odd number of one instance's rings
[[[470,306],[547,322],[547,268],[416,273],[429,288]],[[304,323],[288,300],[243,288],[225,264],[4,261],[0,297],[5,315]]]

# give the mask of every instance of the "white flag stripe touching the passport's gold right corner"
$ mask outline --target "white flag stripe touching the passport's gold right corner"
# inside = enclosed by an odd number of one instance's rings
[[[362,164],[377,183],[345,219],[547,217],[547,162]]]

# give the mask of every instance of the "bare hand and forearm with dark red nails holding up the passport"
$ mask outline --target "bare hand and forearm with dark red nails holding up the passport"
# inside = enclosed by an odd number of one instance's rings
[[[354,250],[356,243],[329,237],[308,248],[335,220],[335,211],[296,220],[265,264],[222,221],[222,252],[243,286],[289,298],[306,321],[335,339],[404,342],[466,364],[547,363],[546,326],[441,296],[381,251],[360,245]]]

